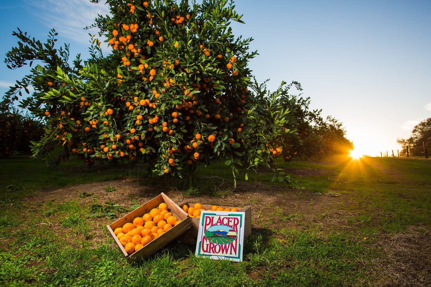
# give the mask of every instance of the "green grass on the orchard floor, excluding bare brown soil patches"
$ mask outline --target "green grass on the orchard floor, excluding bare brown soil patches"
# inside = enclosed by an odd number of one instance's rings
[[[244,240],[244,261],[202,259],[194,247],[172,242],[138,264],[128,264],[106,235],[107,222],[135,208],[116,203],[80,204],[77,200],[32,205],[21,201],[50,183],[60,187],[84,182],[115,179],[116,169],[97,167],[88,171],[76,167],[81,162],[61,164],[50,171],[44,163],[24,157],[1,160],[3,186],[0,201],[0,285],[1,286],[363,286],[380,278],[372,269],[385,262],[373,235],[403,232],[411,225],[431,225],[431,161],[364,158],[348,161],[333,158],[325,162],[277,162],[278,167],[307,171],[292,175],[302,190],[291,190],[300,197],[312,192],[341,194],[339,209],[349,212],[349,232],[337,226],[322,228],[300,210],[275,207],[253,224],[252,235]],[[23,168],[25,167],[25,168]],[[72,171],[69,173],[69,171]],[[309,174],[317,170],[316,175]],[[60,174],[64,177],[60,179]],[[214,162],[199,169],[200,176],[222,176],[206,180],[209,194],[226,197],[232,189],[230,168]],[[132,175],[133,176],[133,175]],[[260,170],[250,173],[249,182],[261,188],[280,187]],[[149,177],[157,182],[157,177]],[[237,177],[237,185],[244,177]],[[7,185],[15,185],[6,190]],[[108,183],[107,191],[113,191]],[[215,186],[215,187],[214,187]],[[286,187],[287,188],[287,187]],[[287,188],[288,189],[288,188]],[[185,192],[185,191],[184,191]],[[199,189],[187,192],[202,192]],[[313,199],[311,196],[310,208]],[[261,199],[251,204],[263,204]],[[314,208],[314,207],[313,207]],[[258,210],[255,210],[257,213]],[[331,210],[330,210],[331,211]],[[321,211],[316,217],[328,216]],[[303,228],[286,228],[295,222]],[[277,225],[276,225],[277,224]],[[103,234],[105,236],[98,237]],[[99,238],[99,239],[97,239]],[[101,239],[100,239],[101,238]]]

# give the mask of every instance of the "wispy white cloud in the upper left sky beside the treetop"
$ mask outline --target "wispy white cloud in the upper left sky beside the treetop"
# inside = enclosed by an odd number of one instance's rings
[[[104,1],[94,4],[89,0],[44,0],[27,3],[31,9],[37,9],[41,21],[48,28],[55,28],[62,37],[83,43],[90,39],[88,33],[96,34],[97,30],[84,30],[85,26],[94,23],[98,14],[109,14],[109,6]]]

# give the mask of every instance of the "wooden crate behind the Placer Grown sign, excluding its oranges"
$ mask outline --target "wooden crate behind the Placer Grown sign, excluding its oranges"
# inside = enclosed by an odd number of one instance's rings
[[[194,203],[189,203],[188,201],[183,201],[183,202],[178,204],[178,206],[181,208],[181,210],[182,210],[182,207],[184,204],[187,205],[188,207],[194,207]],[[223,207],[223,209],[225,209],[225,208],[232,209],[233,208],[233,207],[229,207],[229,206],[220,206],[220,205],[219,205],[219,207]],[[202,208],[204,208],[206,210],[211,210],[212,205],[202,204]],[[236,207],[236,208],[238,209],[238,211],[245,213],[244,237],[248,237],[251,234],[251,206],[245,206],[243,208]],[[178,236],[176,241],[191,244],[191,245],[196,245],[197,233],[199,231],[200,218],[190,217],[190,219],[191,219],[190,229],[187,230],[186,232],[184,232],[181,236]]]

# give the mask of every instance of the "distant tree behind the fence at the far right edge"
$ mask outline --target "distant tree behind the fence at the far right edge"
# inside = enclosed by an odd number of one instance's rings
[[[403,156],[407,154],[406,148],[409,148],[409,154],[412,156],[423,155],[424,144],[427,147],[431,143],[431,117],[415,125],[408,139],[397,139],[397,142],[403,147]]]

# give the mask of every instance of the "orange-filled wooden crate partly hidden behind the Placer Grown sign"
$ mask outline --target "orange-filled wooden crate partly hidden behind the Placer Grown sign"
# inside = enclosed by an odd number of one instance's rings
[[[191,219],[191,227],[183,235],[179,236],[176,240],[178,242],[196,245],[197,234],[199,231],[199,221],[200,213],[203,210],[212,211],[240,211],[245,213],[245,223],[244,223],[244,236],[248,237],[251,234],[251,207],[227,207],[218,205],[208,205],[200,203],[189,203],[188,201],[183,201],[178,204],[178,206],[188,214]]]

